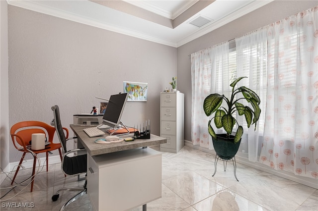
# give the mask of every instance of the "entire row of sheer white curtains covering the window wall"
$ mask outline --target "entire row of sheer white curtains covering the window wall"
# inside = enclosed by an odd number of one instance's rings
[[[192,53],[191,74],[194,145],[213,149],[206,96],[229,96],[233,78],[247,76],[238,85],[256,91],[262,113],[256,131],[244,128],[238,154],[247,151],[250,161],[259,156],[274,169],[318,178],[318,7],[236,39],[236,49],[225,42]]]

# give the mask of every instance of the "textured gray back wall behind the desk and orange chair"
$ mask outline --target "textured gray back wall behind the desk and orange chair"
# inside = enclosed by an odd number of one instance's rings
[[[54,105],[69,127],[73,114],[99,106],[95,96],[109,98],[133,81],[148,83],[148,101],[127,102],[122,121],[150,119],[159,135],[159,94],[176,75],[176,48],[10,5],[8,34],[10,127],[50,122]],[[20,158],[10,144],[10,162]]]

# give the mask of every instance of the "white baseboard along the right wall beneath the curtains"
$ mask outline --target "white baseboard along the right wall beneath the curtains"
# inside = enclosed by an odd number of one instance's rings
[[[208,148],[200,147],[199,145],[193,145],[191,141],[184,140],[184,144],[187,147],[191,147],[191,148],[201,150],[203,152],[215,155],[214,150],[209,150]],[[246,158],[241,158],[241,157],[237,157],[237,156],[235,158],[236,158],[236,161],[238,163],[241,163],[243,165],[247,165],[249,167],[256,168],[258,170],[262,170],[262,171],[265,171],[267,173],[270,173],[270,174],[273,174],[276,176],[280,176],[280,177],[283,177],[285,179],[289,179],[289,180],[292,180],[294,182],[298,182],[300,184],[307,185],[309,187],[318,189],[317,179],[311,179],[308,177],[297,176],[297,175],[293,174],[292,172],[288,172],[288,171],[277,171],[277,170],[274,170],[274,169],[270,168],[269,166],[261,164],[259,162],[251,162]]]

